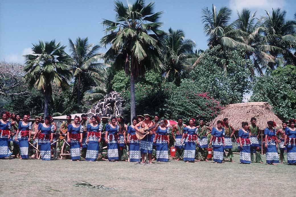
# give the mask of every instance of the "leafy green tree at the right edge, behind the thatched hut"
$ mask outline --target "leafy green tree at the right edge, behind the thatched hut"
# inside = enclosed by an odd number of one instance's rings
[[[256,77],[251,101],[267,101],[282,120],[295,118],[296,66],[277,67],[268,72],[270,73]]]

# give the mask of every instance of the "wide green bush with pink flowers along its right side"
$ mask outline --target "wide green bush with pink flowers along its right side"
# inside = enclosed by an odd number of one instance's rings
[[[173,87],[169,83],[165,85],[164,91],[168,97],[163,103],[164,117],[172,120],[183,117],[186,121],[189,118],[214,119],[221,105],[207,93],[201,93],[198,86],[189,79],[182,80],[180,87]]]

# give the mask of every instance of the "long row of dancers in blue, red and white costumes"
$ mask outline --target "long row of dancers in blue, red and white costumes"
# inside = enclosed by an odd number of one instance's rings
[[[1,118],[0,158],[12,154],[8,145],[9,139],[11,139],[14,147],[17,146],[16,143],[18,142],[20,158],[28,159],[28,143],[33,136],[33,143],[36,142],[39,145],[41,159],[51,159],[51,143],[54,139],[53,133],[57,129],[51,117],[45,117],[44,123],[40,122],[40,117],[37,117],[33,124],[28,121],[28,115],[24,115],[22,121],[18,123],[15,120],[9,121],[7,112],[1,113]],[[111,121],[109,122],[109,120]],[[63,122],[60,131],[67,129],[67,142],[70,145],[70,155],[73,161],[79,161],[81,155],[88,161],[96,161],[99,146],[102,144],[100,142],[104,142],[107,144],[107,159],[109,161],[120,160],[126,145],[128,145],[128,160],[130,162],[140,161],[144,163],[146,154],[149,163],[152,163],[153,159],[168,162],[168,144],[170,143],[171,133],[178,153],[176,160],[183,158],[185,162],[208,161],[210,158],[207,158],[207,147],[211,146],[215,163],[222,163],[226,158],[234,162],[231,138],[235,130],[229,125],[227,118],[222,121],[219,120],[217,127],[213,128],[206,126],[204,119],[200,119],[197,126],[194,125],[196,122],[194,119],[189,119],[189,125],[185,125],[181,117],[177,121],[178,124],[174,125],[170,131],[165,120],[160,120],[159,115],[154,117],[150,114],[139,115],[132,119],[132,124],[129,126],[124,123],[122,116],[112,117],[111,119],[103,116],[100,120],[96,116],[88,119],[83,114],[81,118],[75,116],[74,121],[72,121],[71,115],[67,115],[67,121]],[[15,127],[16,123],[17,130],[13,132],[12,128]],[[276,130],[273,121],[267,122],[263,141],[267,164],[276,165],[279,162],[278,146],[281,152],[281,162],[284,159],[284,151],[287,150],[288,164],[296,163],[296,131],[294,125],[295,120],[290,120],[289,127],[284,122],[283,129]],[[152,129],[148,135],[139,140],[136,131],[139,132],[139,128],[146,126]],[[144,134],[144,132],[142,133]],[[242,122],[242,128],[238,131],[237,139],[240,163],[250,164],[251,161],[263,163],[258,152],[261,144],[260,139],[258,140],[259,134],[260,131],[254,117],[251,119],[250,125],[247,122]],[[277,135],[280,135],[279,139]],[[196,145],[198,146],[198,154],[196,154]],[[156,150],[156,158],[152,157],[153,149]],[[227,155],[225,150],[228,150]],[[256,154],[255,161],[253,153]]]

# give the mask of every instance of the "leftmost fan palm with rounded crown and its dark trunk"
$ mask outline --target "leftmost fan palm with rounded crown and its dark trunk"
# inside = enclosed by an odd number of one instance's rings
[[[25,80],[31,88],[41,89],[44,93],[44,116],[48,115],[48,103],[52,96],[52,86],[69,87],[72,78],[70,57],[65,53],[66,46],[39,41],[33,44],[33,54],[24,55],[26,58],[24,70]]]

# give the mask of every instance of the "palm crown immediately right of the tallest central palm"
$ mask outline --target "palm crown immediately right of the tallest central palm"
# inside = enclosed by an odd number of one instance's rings
[[[185,39],[182,30],[172,30],[170,28],[165,39],[165,78],[174,79],[177,86],[181,83],[182,75],[191,70],[192,64],[188,61],[193,54],[195,42],[191,39]]]

